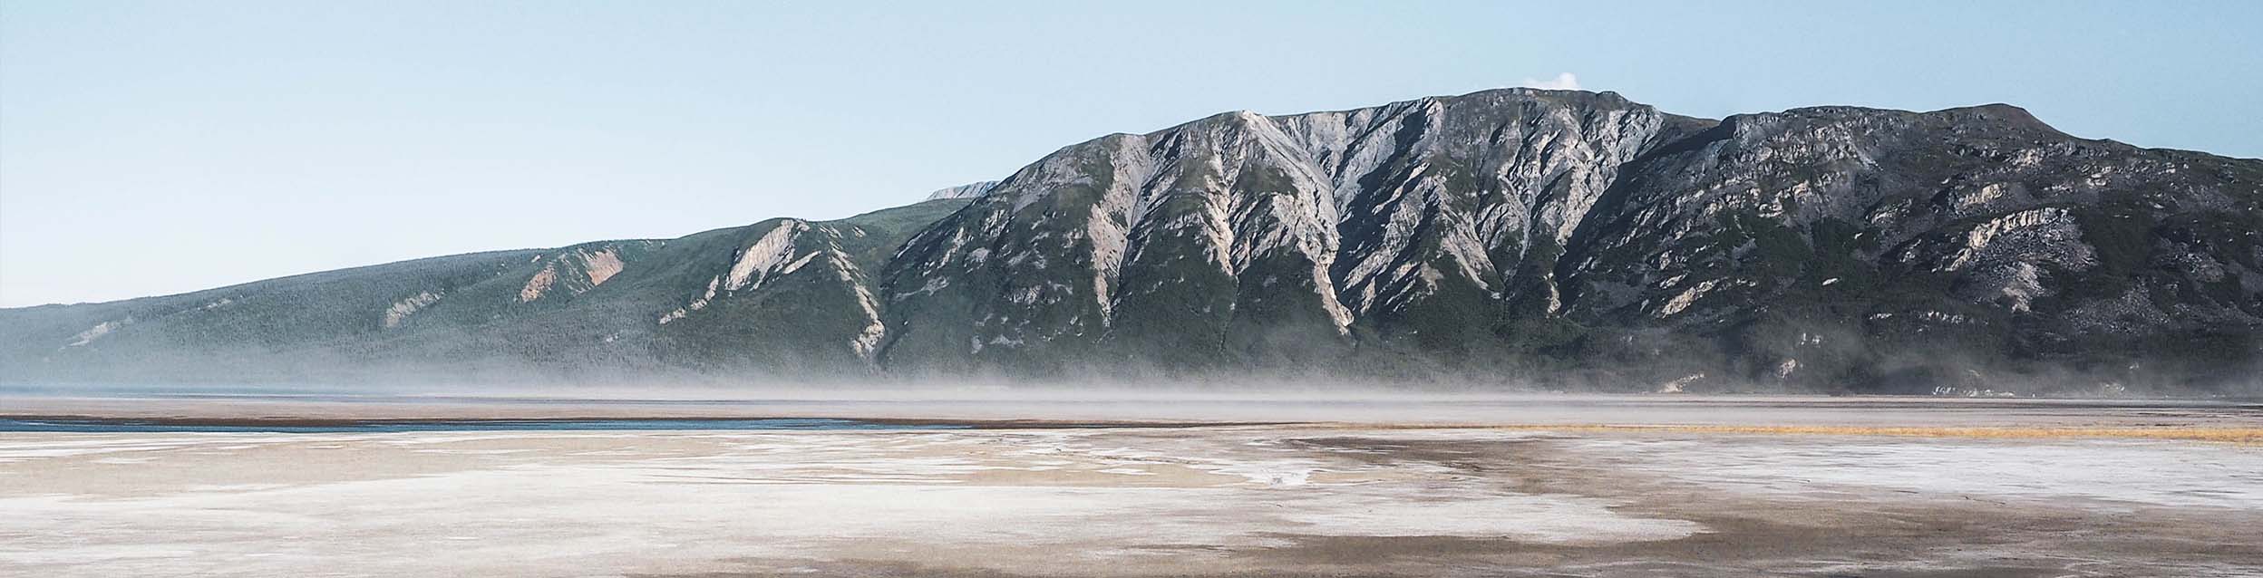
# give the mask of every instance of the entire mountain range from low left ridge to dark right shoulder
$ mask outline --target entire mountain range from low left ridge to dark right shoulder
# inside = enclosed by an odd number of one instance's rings
[[[935,199],[7,309],[0,361],[7,379],[351,366],[1874,393],[2222,393],[2263,370],[2263,160],[2082,140],[2000,104],[1715,122],[1512,88],[1224,113]]]

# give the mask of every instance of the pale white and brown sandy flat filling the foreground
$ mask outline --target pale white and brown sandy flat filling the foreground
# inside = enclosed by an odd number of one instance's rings
[[[2263,576],[2263,452],[1351,424],[0,434],[0,576]]]

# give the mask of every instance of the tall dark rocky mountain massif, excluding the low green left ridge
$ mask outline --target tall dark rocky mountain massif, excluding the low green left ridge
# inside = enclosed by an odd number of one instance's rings
[[[2234,384],[2263,325],[2258,172],[2012,106],[1706,122],[1518,88],[1227,113],[1073,144],[917,235],[883,361]]]

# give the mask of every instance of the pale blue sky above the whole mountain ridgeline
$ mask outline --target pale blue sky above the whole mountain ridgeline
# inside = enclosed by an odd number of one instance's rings
[[[1604,7],[1582,7],[1604,5]],[[0,305],[846,217],[1208,113],[1577,75],[2263,156],[2263,2],[0,0]]]

